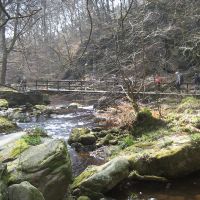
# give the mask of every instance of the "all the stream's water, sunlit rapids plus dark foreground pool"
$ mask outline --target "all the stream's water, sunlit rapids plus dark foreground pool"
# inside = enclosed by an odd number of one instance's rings
[[[68,114],[52,114],[50,118],[40,118],[37,122],[18,123],[22,129],[41,127],[52,138],[62,138],[67,142],[75,127],[94,127],[93,106],[85,106],[81,111]],[[22,132],[23,134],[23,132]],[[13,139],[17,135],[11,134]],[[10,135],[10,136],[11,136]],[[7,142],[9,135],[1,138]],[[74,176],[79,175],[89,165],[101,165],[105,162],[105,149],[91,153],[77,153],[68,145]],[[117,200],[200,200],[200,173],[171,183],[133,182],[120,185],[108,196]]]

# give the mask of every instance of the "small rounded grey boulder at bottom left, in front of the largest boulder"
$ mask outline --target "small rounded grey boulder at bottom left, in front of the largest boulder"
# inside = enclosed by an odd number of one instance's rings
[[[42,193],[27,181],[11,185],[8,195],[9,200],[44,200]]]

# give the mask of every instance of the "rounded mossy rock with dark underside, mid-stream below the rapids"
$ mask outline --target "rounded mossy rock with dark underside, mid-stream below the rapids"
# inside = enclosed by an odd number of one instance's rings
[[[80,143],[82,145],[94,145],[96,142],[95,135],[87,128],[75,128],[69,137],[68,143]]]

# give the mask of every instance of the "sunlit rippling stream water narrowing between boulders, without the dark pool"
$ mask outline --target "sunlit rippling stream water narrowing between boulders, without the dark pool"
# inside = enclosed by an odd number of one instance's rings
[[[41,118],[38,122],[30,123],[18,123],[23,129],[41,127],[45,129],[53,138],[64,139],[67,141],[71,130],[75,127],[92,127],[94,126],[93,109],[91,106],[84,107],[84,111],[62,114],[62,115],[51,115],[50,118]],[[91,156],[89,153],[77,153],[68,146],[69,153],[72,159],[72,168],[74,175],[78,175],[88,165],[96,164],[100,165],[103,159]]]

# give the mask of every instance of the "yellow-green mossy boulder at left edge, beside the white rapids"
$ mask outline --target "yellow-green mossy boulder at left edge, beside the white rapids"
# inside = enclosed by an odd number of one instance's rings
[[[19,129],[16,123],[13,123],[5,117],[0,117],[0,133],[10,133]]]

